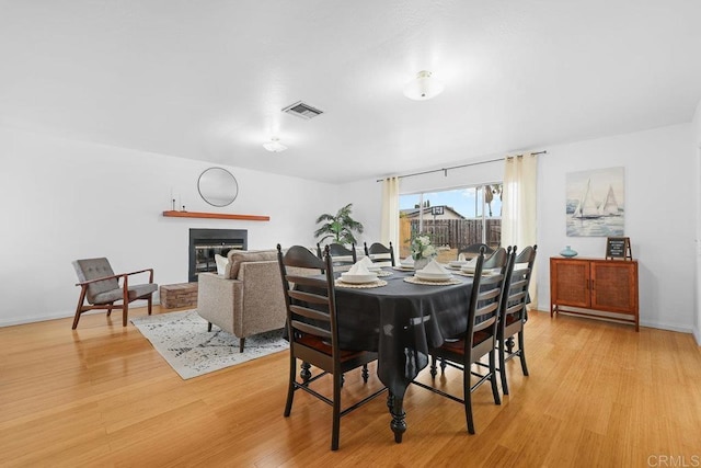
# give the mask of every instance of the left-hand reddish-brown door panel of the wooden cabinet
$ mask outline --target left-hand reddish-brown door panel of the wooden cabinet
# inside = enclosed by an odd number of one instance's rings
[[[589,262],[552,259],[550,294],[559,306],[589,307]]]

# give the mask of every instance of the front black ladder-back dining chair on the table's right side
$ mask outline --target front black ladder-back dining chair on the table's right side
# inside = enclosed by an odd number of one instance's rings
[[[429,352],[432,355],[430,375],[434,380],[433,385],[414,380],[412,384],[430,390],[443,397],[462,403],[464,407],[466,419],[468,422],[468,432],[474,434],[474,421],[472,416],[472,392],[482,384],[490,381],[492,386],[492,395],[495,404],[502,404],[499,398],[499,389],[496,376],[496,340],[498,332],[498,312],[499,301],[503,295],[504,282],[506,275],[502,273],[493,273],[482,275],[484,266],[484,250],[480,252],[474,269],[474,279],[472,283],[472,294],[467,308],[466,330],[458,336],[448,338],[440,346],[433,347]],[[508,255],[505,262],[508,262]],[[508,267],[505,265],[505,267]],[[473,364],[481,364],[483,356],[489,356],[489,365],[486,372],[480,374]],[[448,393],[436,387],[436,359],[441,358],[445,364],[462,372],[462,398]],[[445,370],[444,370],[445,372]],[[472,376],[478,380],[472,384]]]

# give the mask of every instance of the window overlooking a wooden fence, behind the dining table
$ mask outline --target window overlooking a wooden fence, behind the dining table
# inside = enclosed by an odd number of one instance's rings
[[[483,242],[499,247],[502,238],[502,183],[464,186],[439,192],[400,195],[400,255],[418,232],[430,235],[439,260],[455,260],[461,246]]]

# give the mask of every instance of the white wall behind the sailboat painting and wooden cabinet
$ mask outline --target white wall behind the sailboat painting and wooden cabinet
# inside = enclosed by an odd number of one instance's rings
[[[689,124],[548,147],[538,167],[538,308],[550,308],[548,258],[571,244],[602,258],[605,238],[566,237],[565,175],[624,167],[625,236],[639,261],[641,324],[691,332],[698,178]]]

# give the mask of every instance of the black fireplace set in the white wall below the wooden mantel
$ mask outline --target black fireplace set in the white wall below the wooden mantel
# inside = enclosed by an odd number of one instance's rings
[[[227,256],[232,249],[246,250],[249,231],[245,229],[191,229],[188,282],[197,281],[204,272],[216,272],[215,254]]]

